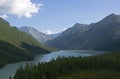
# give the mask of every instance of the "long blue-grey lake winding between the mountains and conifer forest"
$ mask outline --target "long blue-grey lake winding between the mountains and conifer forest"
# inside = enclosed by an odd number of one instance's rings
[[[33,61],[25,61],[19,63],[8,64],[2,69],[0,69],[0,79],[9,79],[9,76],[13,76],[16,70],[19,68],[20,65],[25,66],[26,63],[39,63],[39,62],[49,62],[51,59],[56,59],[58,56],[93,56],[106,53],[105,51],[91,51],[91,50],[64,50],[59,52],[52,52],[49,54],[42,54],[37,55]]]

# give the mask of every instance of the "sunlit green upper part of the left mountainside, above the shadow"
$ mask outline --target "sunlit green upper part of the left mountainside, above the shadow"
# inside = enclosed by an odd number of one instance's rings
[[[37,46],[42,49],[48,50],[49,52],[55,51],[55,49],[53,48],[49,48],[47,46],[40,44],[38,41],[32,38],[32,36],[24,32],[21,32],[14,27],[11,27],[8,22],[1,18],[0,18],[0,40],[13,44],[19,48],[21,48],[21,45],[23,43],[26,43],[32,46]]]

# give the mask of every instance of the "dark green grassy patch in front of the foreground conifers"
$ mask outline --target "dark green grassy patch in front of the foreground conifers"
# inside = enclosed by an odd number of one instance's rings
[[[59,76],[57,79],[120,79],[118,71],[81,71]]]

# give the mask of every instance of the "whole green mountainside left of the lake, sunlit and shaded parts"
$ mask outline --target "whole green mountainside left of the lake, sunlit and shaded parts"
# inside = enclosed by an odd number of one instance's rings
[[[36,54],[54,49],[37,42],[32,36],[19,31],[0,18],[0,67],[4,64],[33,59]]]

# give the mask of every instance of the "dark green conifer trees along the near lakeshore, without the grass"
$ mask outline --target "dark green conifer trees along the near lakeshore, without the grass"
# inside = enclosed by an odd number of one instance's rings
[[[110,53],[91,57],[58,57],[50,62],[20,66],[10,79],[56,79],[58,76],[84,70],[120,71],[120,54]]]

